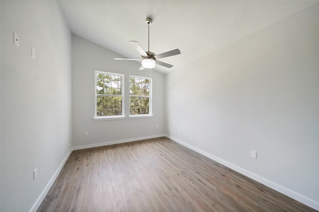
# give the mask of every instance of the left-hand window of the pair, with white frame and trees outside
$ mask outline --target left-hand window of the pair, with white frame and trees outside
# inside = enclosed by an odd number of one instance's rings
[[[124,117],[124,75],[95,71],[95,118]]]

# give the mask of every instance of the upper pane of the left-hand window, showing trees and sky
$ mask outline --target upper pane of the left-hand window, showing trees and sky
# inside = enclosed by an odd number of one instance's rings
[[[96,77],[96,93],[122,95],[122,77],[98,73]]]

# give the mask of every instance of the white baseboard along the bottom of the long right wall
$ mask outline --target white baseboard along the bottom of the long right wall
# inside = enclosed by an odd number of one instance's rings
[[[252,172],[249,172],[249,171],[247,171],[247,170],[245,170],[245,169],[243,169],[243,168],[241,168],[239,166],[236,166],[236,165],[234,165],[232,163],[229,163],[229,162],[227,162],[227,161],[225,161],[225,160],[223,160],[223,159],[221,159],[219,157],[216,157],[216,156],[214,156],[212,154],[209,154],[209,153],[207,153],[207,152],[205,152],[205,151],[203,151],[201,149],[198,149],[198,148],[196,148],[196,147],[194,147],[192,145],[189,145],[189,144],[187,144],[187,143],[185,143],[183,141],[179,141],[178,139],[175,139],[175,138],[173,138],[171,136],[168,136],[168,135],[165,135],[165,137],[167,137],[167,138],[169,138],[169,139],[171,139],[171,140],[173,140],[173,141],[175,141],[175,142],[177,142],[177,143],[179,143],[179,144],[181,144],[181,145],[183,145],[183,146],[185,146],[187,148],[190,148],[190,149],[192,149],[192,150],[194,150],[194,151],[196,151],[196,152],[198,152],[198,153],[200,153],[200,154],[202,154],[202,155],[204,155],[204,156],[206,156],[206,157],[208,157],[208,158],[210,158],[212,160],[215,160],[216,162],[219,162],[219,163],[223,164],[224,166],[227,166],[227,167],[229,167],[229,168],[231,168],[231,169],[233,169],[233,170],[235,170],[235,171],[237,171],[237,172],[239,172],[239,173],[241,173],[241,174],[243,174],[243,175],[245,175],[245,176],[247,176],[247,177],[249,177],[249,178],[251,178],[251,179],[253,179],[253,180],[257,181],[257,182],[259,182],[259,183],[261,183],[261,184],[264,184],[265,186],[268,186],[269,188],[272,188],[272,189],[274,189],[274,190],[276,190],[276,191],[278,191],[278,192],[280,192],[280,193],[282,193],[282,194],[284,194],[284,195],[286,195],[286,196],[288,196],[288,197],[290,197],[290,198],[292,198],[294,200],[297,200],[297,201],[299,201],[299,202],[301,202],[301,203],[303,203],[303,204],[305,204],[305,205],[307,205],[307,206],[319,211],[319,203],[318,202],[315,202],[315,201],[313,201],[313,200],[311,200],[311,199],[309,199],[307,197],[304,197],[303,195],[300,195],[300,194],[298,194],[298,193],[296,193],[294,191],[291,191],[291,190],[289,190],[289,189],[287,189],[287,188],[285,188],[285,187],[283,187],[281,185],[278,185],[278,184],[276,184],[274,182],[271,182],[271,181],[269,181],[269,180],[267,180],[267,179],[265,179],[265,178],[263,178],[261,176],[258,176],[258,175],[254,174]]]

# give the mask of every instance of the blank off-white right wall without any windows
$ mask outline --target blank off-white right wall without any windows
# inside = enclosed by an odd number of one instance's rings
[[[319,4],[167,74],[165,102],[170,138],[319,210]]]

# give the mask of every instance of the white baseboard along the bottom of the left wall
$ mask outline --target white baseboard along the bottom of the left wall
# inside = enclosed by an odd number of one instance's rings
[[[58,177],[58,175],[60,174],[64,164],[66,163],[66,161],[68,160],[71,152],[73,151],[73,149],[71,148],[70,151],[67,153],[67,155],[64,157],[63,161],[61,162],[61,164],[59,165],[58,169],[55,171],[54,175],[51,177],[49,183],[45,186],[44,190],[42,191],[42,193],[40,194],[39,198],[35,201],[35,203],[33,204],[30,212],[36,212],[38,210],[38,208],[40,207],[42,201],[44,200],[45,196],[47,195],[47,193],[49,192],[51,186],[53,185],[54,181],[56,180],[56,178]]]

